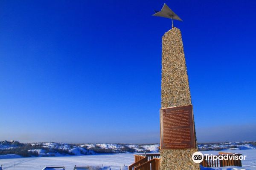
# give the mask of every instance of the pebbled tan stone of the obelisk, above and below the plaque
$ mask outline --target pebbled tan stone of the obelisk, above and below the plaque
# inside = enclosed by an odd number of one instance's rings
[[[162,37],[161,108],[191,103],[189,80],[180,30],[172,28]],[[195,136],[195,144],[196,136]],[[192,161],[198,149],[160,150],[160,170],[199,170]]]

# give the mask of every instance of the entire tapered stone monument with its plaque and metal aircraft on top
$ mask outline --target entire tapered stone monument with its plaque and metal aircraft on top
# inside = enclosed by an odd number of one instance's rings
[[[164,4],[154,16],[181,20]],[[162,37],[160,170],[199,170],[194,117],[180,29]]]

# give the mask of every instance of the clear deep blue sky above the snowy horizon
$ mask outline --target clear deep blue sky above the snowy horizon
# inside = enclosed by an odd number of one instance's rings
[[[1,0],[0,140],[158,143],[163,3],[198,142],[256,140],[253,0]]]

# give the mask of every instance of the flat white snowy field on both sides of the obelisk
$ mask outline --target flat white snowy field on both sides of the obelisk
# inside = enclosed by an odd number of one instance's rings
[[[205,168],[205,170],[256,170],[256,150],[225,150],[224,152],[242,153],[246,160],[243,167]],[[202,153],[217,155],[218,151],[204,151]],[[41,170],[45,166],[65,166],[66,170],[73,170],[77,166],[110,166],[112,170],[120,170],[125,164],[134,162],[133,153],[98,154],[87,156],[59,156],[59,157],[32,157],[32,158],[2,158],[0,165],[3,170]]]

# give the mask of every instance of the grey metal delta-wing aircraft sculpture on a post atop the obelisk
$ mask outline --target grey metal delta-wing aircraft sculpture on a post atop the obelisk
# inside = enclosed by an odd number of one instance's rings
[[[163,5],[163,8],[161,9],[161,11],[156,11],[154,10],[155,14],[153,14],[153,16],[156,17],[165,17],[165,18],[170,18],[172,20],[180,20],[179,16],[177,16],[177,14],[175,14],[172,9],[170,9],[166,4]],[[173,21],[172,21],[172,28],[173,28]]]

